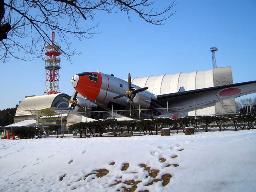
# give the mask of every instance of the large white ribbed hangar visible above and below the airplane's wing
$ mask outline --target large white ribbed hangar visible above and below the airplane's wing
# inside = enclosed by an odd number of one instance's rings
[[[231,67],[218,67],[207,71],[194,71],[191,73],[165,74],[159,76],[136,77],[132,83],[139,87],[149,87],[148,91],[155,95],[178,92],[180,87],[186,91],[207,87],[229,85],[233,83]],[[224,114],[235,112],[235,99],[224,101]],[[197,110],[197,115],[222,114],[222,105],[206,107]],[[194,111],[188,115],[195,115]]]

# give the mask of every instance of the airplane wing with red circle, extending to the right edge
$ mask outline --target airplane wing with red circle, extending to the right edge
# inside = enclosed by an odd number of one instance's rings
[[[159,103],[172,110],[179,112],[187,112],[194,110],[196,101],[196,109],[205,108],[205,106],[214,106],[216,102],[221,100],[235,98],[256,92],[256,81],[236,83],[231,85],[222,85],[217,87],[209,87],[204,89],[196,89],[191,91],[168,93],[155,96]]]

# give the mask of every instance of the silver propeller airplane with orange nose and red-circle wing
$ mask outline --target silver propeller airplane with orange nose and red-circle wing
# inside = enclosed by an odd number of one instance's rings
[[[215,103],[256,92],[256,81],[221,85],[203,89],[185,91],[183,87],[179,92],[155,95],[147,91],[148,87],[138,87],[131,83],[131,75],[127,81],[115,77],[113,74],[101,72],[83,72],[71,78],[75,94],[68,100],[72,110],[88,118],[104,119],[111,117],[104,111],[117,110],[119,115],[138,119],[150,118],[170,113],[183,113],[205,106],[214,106]],[[79,97],[77,94],[83,96]],[[66,98],[67,100],[67,98]],[[168,106],[167,106],[168,103]],[[175,110],[174,110],[175,108]],[[155,110],[143,110],[155,109]],[[99,111],[98,113],[91,113]],[[86,114],[85,114],[86,112]]]

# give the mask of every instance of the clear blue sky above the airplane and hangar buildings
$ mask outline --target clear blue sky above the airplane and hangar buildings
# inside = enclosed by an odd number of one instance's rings
[[[71,77],[97,68],[119,78],[127,78],[128,72],[134,78],[209,70],[210,47],[219,49],[217,67],[232,67],[234,83],[256,80],[256,1],[176,2],[173,11],[177,12],[163,26],[148,24],[136,14],[130,14],[130,22],[123,12],[97,12],[88,24],[100,22],[96,31],[101,34],[82,41],[71,37],[71,48],[82,55],[73,57],[73,64],[61,57],[60,91],[71,95]],[[155,9],[169,3],[159,0]],[[57,36],[55,41],[64,47]],[[41,59],[1,63],[0,110],[15,107],[24,96],[43,94],[44,64]]]

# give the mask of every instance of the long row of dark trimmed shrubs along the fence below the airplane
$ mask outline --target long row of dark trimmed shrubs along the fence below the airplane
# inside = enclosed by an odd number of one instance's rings
[[[149,135],[152,135],[154,133],[158,134],[158,131],[164,126],[168,126],[170,129],[177,129],[178,133],[179,129],[182,129],[184,132],[185,127],[195,127],[196,125],[204,124],[204,131],[207,132],[208,127],[212,123],[216,123],[219,127],[219,131],[221,131],[222,128],[225,128],[225,124],[230,121],[233,123],[235,130],[237,130],[237,127],[240,127],[243,130],[245,126],[248,126],[249,129],[254,129],[253,122],[256,121],[256,117],[252,115],[237,115],[231,118],[222,118],[215,115],[205,115],[197,118],[182,117],[178,119],[159,117],[156,119],[144,119],[142,121],[117,121],[116,119],[105,119],[90,122],[79,122],[71,125],[69,130],[77,131],[80,137],[82,137],[82,133],[86,132],[86,130],[90,133],[86,136],[94,136],[93,129],[99,133],[100,137],[104,132],[108,131],[111,131],[114,136],[117,136],[118,128],[121,129],[121,132],[123,128],[126,128],[128,132],[141,130],[144,132],[144,135],[146,135],[147,132],[149,132]]]

